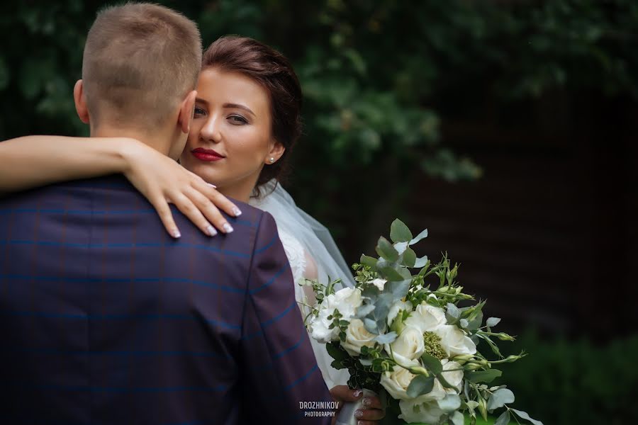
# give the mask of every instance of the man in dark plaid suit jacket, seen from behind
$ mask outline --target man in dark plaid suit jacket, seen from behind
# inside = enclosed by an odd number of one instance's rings
[[[201,65],[196,25],[125,4],[96,18],[74,90],[91,136],[177,158]],[[237,203],[239,205],[240,203]],[[270,215],[167,237],[122,176],[0,200],[1,424],[289,424],[329,402]]]

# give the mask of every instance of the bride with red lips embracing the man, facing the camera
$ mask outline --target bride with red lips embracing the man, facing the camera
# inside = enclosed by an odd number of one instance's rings
[[[88,115],[79,115],[89,123]],[[181,166],[134,139],[104,138],[94,143],[79,137],[19,137],[0,143],[0,193],[123,173],[152,203],[174,237],[179,237],[179,229],[169,203],[211,237],[217,229],[232,232],[213,205],[240,215],[224,197],[228,196],[273,215],[297,283],[309,278],[325,284],[329,278],[340,278],[353,285],[328,229],[298,208],[279,184],[300,135],[301,86],[288,60],[256,40],[223,37],[203,55]],[[312,290],[296,285],[295,294],[302,313],[306,312],[303,305],[314,302]],[[310,341],[332,397],[359,399],[361,392],[345,385],[347,370],[332,368],[325,346]],[[359,424],[373,424],[384,416],[378,398],[364,399],[364,406],[355,412]]]

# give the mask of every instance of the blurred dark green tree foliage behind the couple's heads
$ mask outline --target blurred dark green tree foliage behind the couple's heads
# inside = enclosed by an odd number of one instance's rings
[[[239,33],[291,58],[306,96],[293,194],[337,233],[339,192],[342,211],[378,222],[391,213],[365,212],[381,193],[384,208],[400,205],[410,189],[396,188],[415,173],[481,175],[446,145],[450,109],[471,114],[487,98],[507,105],[557,88],[638,98],[634,0],[159,2],[196,20],[206,45]],[[86,134],[72,86],[103,4],[0,6],[0,138]]]

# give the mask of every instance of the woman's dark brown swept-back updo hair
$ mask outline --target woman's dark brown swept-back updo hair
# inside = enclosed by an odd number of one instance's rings
[[[301,85],[284,55],[252,38],[235,35],[218,38],[202,57],[202,70],[213,67],[240,72],[268,92],[272,137],[284,145],[286,151],[279,161],[264,166],[259,174],[252,195],[258,198],[260,186],[271,179],[281,181],[288,171],[287,159],[301,135]]]

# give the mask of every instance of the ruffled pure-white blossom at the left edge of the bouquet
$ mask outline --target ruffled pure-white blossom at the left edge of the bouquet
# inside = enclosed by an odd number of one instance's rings
[[[341,313],[342,320],[349,320],[361,302],[361,290],[358,288],[343,288],[328,295],[321,302],[318,314],[310,321],[310,335],[323,344],[339,339],[339,328],[330,329],[332,319],[328,319],[328,316],[336,309]]]

